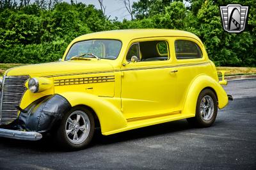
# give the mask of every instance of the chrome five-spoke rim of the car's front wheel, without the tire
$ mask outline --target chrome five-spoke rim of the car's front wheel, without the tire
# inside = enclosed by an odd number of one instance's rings
[[[81,144],[90,132],[90,120],[83,111],[74,111],[66,121],[66,135],[72,144]]]

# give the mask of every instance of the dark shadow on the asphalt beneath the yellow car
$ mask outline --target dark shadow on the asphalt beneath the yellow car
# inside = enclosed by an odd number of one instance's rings
[[[152,125],[150,127],[143,127],[126,132],[121,132],[113,135],[102,135],[100,128],[95,130],[95,135],[92,139],[90,147],[104,146],[106,144],[115,144],[124,141],[131,141],[133,139],[143,139],[147,137],[154,137],[163,134],[172,134],[189,130],[193,127],[189,125],[186,120],[171,121],[159,125]],[[55,143],[51,135],[44,137],[40,141],[21,141],[16,139],[0,138],[1,148],[15,148],[16,150],[30,150],[35,152],[62,152],[58,144]]]

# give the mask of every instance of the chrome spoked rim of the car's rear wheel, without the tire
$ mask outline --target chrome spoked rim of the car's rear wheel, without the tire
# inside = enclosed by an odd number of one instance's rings
[[[214,112],[214,103],[212,97],[206,95],[200,102],[200,114],[205,121],[209,121],[212,118]]]

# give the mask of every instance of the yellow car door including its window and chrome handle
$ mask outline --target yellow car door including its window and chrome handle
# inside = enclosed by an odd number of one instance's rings
[[[177,77],[168,44],[168,40],[163,38],[131,43],[121,68],[121,99],[125,118],[177,111]]]

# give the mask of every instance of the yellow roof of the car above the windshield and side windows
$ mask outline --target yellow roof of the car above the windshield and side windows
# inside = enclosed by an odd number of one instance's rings
[[[156,36],[186,36],[195,38],[200,41],[198,36],[188,31],[180,31],[175,29],[120,29],[113,31],[101,31],[90,33],[77,37],[74,41],[79,42],[89,39],[116,39],[116,40],[133,40],[136,38],[156,37]],[[201,42],[202,43],[202,42]]]

